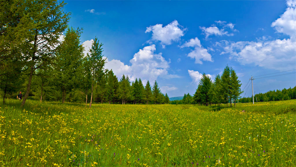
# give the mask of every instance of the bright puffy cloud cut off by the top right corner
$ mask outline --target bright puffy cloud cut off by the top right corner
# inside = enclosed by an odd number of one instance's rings
[[[288,8],[280,18],[272,22],[277,32],[284,33],[290,37],[296,37],[296,1],[287,1]]]

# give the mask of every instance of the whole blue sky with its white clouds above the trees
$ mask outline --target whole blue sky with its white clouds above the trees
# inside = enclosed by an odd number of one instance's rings
[[[69,25],[98,37],[118,78],[157,80],[170,97],[194,94],[202,73],[228,64],[251,75],[296,67],[296,1],[66,1]],[[295,71],[290,71],[295,72]],[[289,72],[286,72],[289,73]],[[281,73],[279,73],[281,74]],[[295,74],[254,80],[256,93],[294,87]],[[251,96],[251,88],[242,96]]]

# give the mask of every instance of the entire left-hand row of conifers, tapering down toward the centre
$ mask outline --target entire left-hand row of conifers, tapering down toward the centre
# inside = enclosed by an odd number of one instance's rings
[[[68,26],[70,13],[56,0],[1,1],[0,91],[15,98],[25,90],[21,106],[28,98],[109,104],[169,103],[155,81],[143,86],[123,75],[118,81],[104,68],[103,43],[95,37],[87,55],[80,37],[82,28]],[[64,38],[61,40],[61,37]]]

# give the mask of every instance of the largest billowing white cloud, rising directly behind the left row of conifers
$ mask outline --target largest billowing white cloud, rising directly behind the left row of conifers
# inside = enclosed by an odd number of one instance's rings
[[[83,42],[85,48],[84,54],[89,53],[93,40],[86,40]],[[169,74],[170,60],[167,61],[163,58],[162,53],[155,53],[155,45],[146,46],[140,49],[139,52],[133,55],[130,60],[130,65],[126,65],[120,60],[108,60],[106,59],[105,69],[113,71],[118,79],[123,74],[128,75],[131,81],[136,78],[141,78],[143,83],[147,80],[154,81],[158,77],[162,78],[180,78],[178,75]]]

